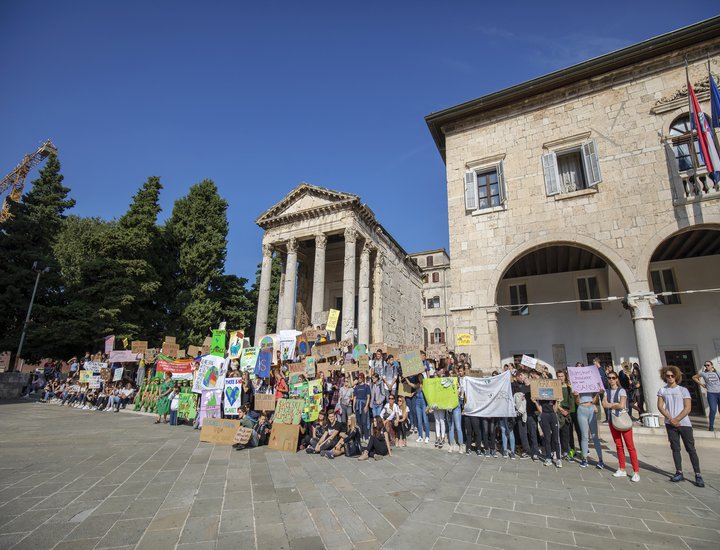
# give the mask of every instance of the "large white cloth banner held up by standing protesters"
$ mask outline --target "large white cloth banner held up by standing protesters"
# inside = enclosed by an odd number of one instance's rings
[[[514,417],[510,371],[488,378],[462,378],[466,416]]]

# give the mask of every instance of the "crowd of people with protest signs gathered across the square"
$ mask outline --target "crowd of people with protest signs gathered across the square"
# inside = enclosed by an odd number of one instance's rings
[[[414,376],[403,376],[402,365],[392,355],[376,350],[369,360],[367,371],[358,371],[354,360],[348,359],[341,368],[332,369],[321,376],[323,396],[317,420],[300,422],[298,451],[319,454],[329,459],[340,456],[358,460],[381,459],[393,449],[407,446],[414,439],[421,446],[430,445],[431,423],[433,443],[438,450],[464,453],[505,460],[541,461],[545,466],[562,468],[563,463],[575,463],[580,468],[591,464],[605,469],[598,424],[609,424],[609,431],[617,451],[615,477],[629,475],[631,481],[640,480],[640,465],[633,440],[632,413],[644,412],[642,379],[637,364],[623,364],[616,372],[599,361],[586,368],[601,373],[604,390],[593,393],[573,391],[566,370],[553,372],[547,366],[527,368],[519,364],[506,364],[487,373],[496,376],[510,371],[514,401],[514,414],[507,417],[477,417],[466,415],[464,400],[466,377],[482,376],[471,371],[462,354],[448,360],[430,361],[421,352],[424,371]],[[340,359],[342,363],[344,359]],[[576,366],[583,367],[582,363]],[[178,381],[170,373],[153,373],[149,367],[144,383],[137,389],[131,383],[103,383],[99,388],[80,384],[76,373],[67,379],[52,379],[43,387],[43,402],[57,403],[92,410],[115,410],[134,404],[136,411],[157,414],[156,423],[172,425],[178,419],[178,401],[181,394],[192,393],[191,381]],[[155,374],[155,376],[153,376]],[[231,415],[248,428],[247,438],[237,443],[237,449],[256,447],[268,443],[273,424],[271,411],[256,411],[255,396],[274,393],[276,399],[288,397],[289,373],[286,365],[272,368],[268,378],[241,372],[231,362],[227,377],[240,378],[240,404],[238,413]],[[684,386],[681,371],[674,366],[660,371],[666,383],[658,393],[658,410],[664,417],[676,472],[672,481],[684,479],[680,443],[685,447],[695,474],[695,484],[704,486],[699,460],[694,446],[689,413],[690,394]],[[458,406],[452,410],[429,406],[423,392],[423,381],[434,377],[457,377]],[[557,378],[562,387],[562,399],[533,399],[531,381],[540,378]],[[301,381],[304,381],[301,376]],[[710,396],[713,394],[715,410],[711,406],[710,429],[720,396],[720,378],[711,361],[695,378]],[[197,405],[197,403],[196,403]],[[197,407],[196,407],[197,408]],[[604,411],[604,420],[602,420]],[[199,413],[198,413],[199,414]],[[629,417],[629,425],[626,418]],[[188,423],[199,425],[198,418],[187,418]],[[638,420],[635,419],[635,422]],[[590,444],[592,443],[592,450]],[[594,453],[594,454],[593,454]],[[632,471],[626,472],[626,454]]]

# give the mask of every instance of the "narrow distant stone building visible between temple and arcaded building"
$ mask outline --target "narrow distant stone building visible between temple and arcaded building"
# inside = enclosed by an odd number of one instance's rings
[[[422,324],[423,343],[445,344],[450,349],[452,316],[448,307],[450,298],[450,257],[444,248],[414,252],[410,257],[422,272]]]

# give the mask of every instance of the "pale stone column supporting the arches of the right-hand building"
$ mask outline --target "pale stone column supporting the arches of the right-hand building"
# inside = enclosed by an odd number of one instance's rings
[[[663,381],[660,380],[658,373],[662,367],[662,359],[655,333],[655,318],[652,313],[652,306],[655,305],[656,299],[657,296],[652,292],[635,292],[627,296],[635,327],[645,410],[658,414],[657,392],[663,386]],[[660,425],[662,426],[662,419]]]

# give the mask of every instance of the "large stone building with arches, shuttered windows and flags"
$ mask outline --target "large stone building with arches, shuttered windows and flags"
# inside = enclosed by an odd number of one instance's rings
[[[709,114],[720,17],[426,117],[446,164],[456,333],[486,370],[526,353],[658,368],[720,356],[720,188],[688,124]]]

